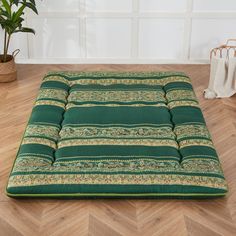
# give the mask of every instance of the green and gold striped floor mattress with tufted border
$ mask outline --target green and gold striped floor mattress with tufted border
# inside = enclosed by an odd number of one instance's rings
[[[179,72],[50,72],[6,189],[10,197],[217,197],[221,165]]]

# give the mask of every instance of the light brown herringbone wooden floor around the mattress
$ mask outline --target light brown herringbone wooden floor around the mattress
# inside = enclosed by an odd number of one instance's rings
[[[14,200],[5,186],[42,76],[49,70],[184,71],[192,77],[229,184],[215,200]],[[205,100],[208,65],[19,65],[0,84],[0,236],[236,235],[236,96]]]

